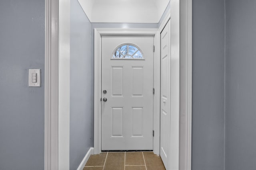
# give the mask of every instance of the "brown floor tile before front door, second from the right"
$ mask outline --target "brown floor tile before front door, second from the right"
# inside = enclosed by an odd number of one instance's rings
[[[144,165],[142,152],[126,152],[125,165]]]

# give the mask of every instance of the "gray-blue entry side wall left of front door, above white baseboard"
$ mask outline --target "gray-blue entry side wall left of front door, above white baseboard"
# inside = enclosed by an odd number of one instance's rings
[[[76,170],[94,134],[94,57],[91,23],[77,0],[70,0],[70,170]]]

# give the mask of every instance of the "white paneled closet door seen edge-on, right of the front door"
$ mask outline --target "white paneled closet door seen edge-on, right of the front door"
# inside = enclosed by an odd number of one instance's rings
[[[170,143],[170,20],[161,33],[160,156],[168,169]]]

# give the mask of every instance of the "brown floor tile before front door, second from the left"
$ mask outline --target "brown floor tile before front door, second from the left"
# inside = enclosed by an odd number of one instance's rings
[[[124,170],[124,152],[108,153],[104,170]]]

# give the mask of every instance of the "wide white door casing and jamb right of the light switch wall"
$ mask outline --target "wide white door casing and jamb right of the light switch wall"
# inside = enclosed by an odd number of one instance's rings
[[[70,0],[45,0],[45,170],[69,167],[69,47]]]

